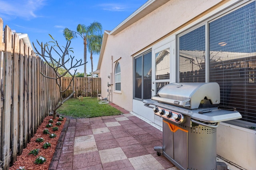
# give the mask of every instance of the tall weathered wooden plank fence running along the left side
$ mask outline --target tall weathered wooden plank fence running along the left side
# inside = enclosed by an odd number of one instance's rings
[[[4,38],[2,30],[0,18],[0,168],[8,170],[57,105],[60,93],[54,80],[40,74],[54,76],[54,71],[18,35],[12,35],[8,26]]]

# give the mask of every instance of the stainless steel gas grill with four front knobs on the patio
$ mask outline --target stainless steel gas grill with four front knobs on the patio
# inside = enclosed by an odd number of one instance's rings
[[[154,147],[181,170],[225,170],[216,162],[216,128],[239,119],[235,108],[220,108],[218,83],[171,83],[143,101],[163,118],[163,145]]]

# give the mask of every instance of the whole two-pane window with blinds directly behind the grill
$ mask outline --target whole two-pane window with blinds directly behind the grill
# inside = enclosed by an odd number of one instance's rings
[[[256,123],[255,1],[178,35],[178,53],[179,82],[218,82],[220,105]]]

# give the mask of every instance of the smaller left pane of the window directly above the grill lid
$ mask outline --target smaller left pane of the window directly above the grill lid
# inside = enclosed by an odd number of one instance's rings
[[[205,82],[205,25],[179,38],[180,82]]]

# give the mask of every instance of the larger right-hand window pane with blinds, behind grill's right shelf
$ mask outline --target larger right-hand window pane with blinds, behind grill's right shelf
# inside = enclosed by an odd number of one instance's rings
[[[221,105],[236,107],[256,123],[255,2],[209,23],[210,82],[220,85]]]

